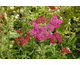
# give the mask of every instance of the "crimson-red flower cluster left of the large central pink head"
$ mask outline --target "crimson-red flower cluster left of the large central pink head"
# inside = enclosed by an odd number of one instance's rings
[[[19,30],[19,29],[17,29],[16,31],[18,31],[18,33],[20,34],[22,31],[21,30]],[[14,41],[15,41],[15,43],[20,43],[21,45],[23,45],[23,44],[27,44],[27,41],[29,40],[29,38],[30,38],[30,34],[28,33],[28,32],[25,32],[25,34],[27,34],[26,36],[25,36],[25,38],[23,37],[23,36],[19,36],[18,38],[15,38],[14,39]]]

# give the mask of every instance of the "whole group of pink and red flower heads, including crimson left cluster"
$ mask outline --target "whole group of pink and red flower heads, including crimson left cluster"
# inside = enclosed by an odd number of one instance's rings
[[[44,24],[46,22],[48,22],[47,24]],[[38,17],[36,20],[32,20],[30,23],[33,25],[32,28],[30,29],[30,34],[34,36],[36,41],[40,41],[40,40],[50,40],[50,43],[56,43],[59,41],[62,41],[61,36],[59,33],[54,32],[53,34],[50,32],[53,32],[54,28],[57,28],[60,26],[60,24],[63,23],[63,20],[60,20],[57,18],[56,15],[52,15],[50,20],[46,20],[44,19],[42,16]],[[40,26],[39,24],[42,25]],[[18,31],[18,33],[20,34],[22,31],[17,29],[16,31]],[[27,32],[25,38],[23,36],[19,36],[19,38],[15,38],[14,41],[16,43],[20,43],[21,45],[26,44],[26,42],[29,40],[30,38],[30,34],[29,32]]]

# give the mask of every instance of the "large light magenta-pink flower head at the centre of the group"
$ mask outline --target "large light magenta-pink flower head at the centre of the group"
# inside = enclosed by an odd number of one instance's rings
[[[30,32],[32,35],[34,35],[34,38],[36,38],[36,40],[39,41],[44,40],[45,36],[48,36],[48,31],[46,29],[46,25],[39,26],[38,24],[34,23]]]

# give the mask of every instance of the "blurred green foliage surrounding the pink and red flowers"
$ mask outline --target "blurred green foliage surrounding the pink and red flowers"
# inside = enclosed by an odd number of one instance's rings
[[[0,18],[0,58],[1,59],[42,59],[44,52],[45,59],[80,59],[80,7],[79,6],[55,6],[50,9],[48,6],[1,6],[0,13],[5,16]],[[16,29],[24,33],[32,27],[30,21],[39,16],[50,19],[57,15],[63,20],[63,24],[53,32],[61,34],[62,41],[51,44],[48,41],[36,42],[33,36],[26,45],[14,43],[13,39],[19,34]],[[41,44],[44,44],[44,51]],[[61,48],[70,49],[70,54],[61,55]]]

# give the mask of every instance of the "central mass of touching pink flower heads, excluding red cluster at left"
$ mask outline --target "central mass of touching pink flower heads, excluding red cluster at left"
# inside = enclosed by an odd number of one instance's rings
[[[37,18],[37,21],[41,19],[41,21],[39,23],[42,22],[42,19],[43,17],[39,17]],[[52,19],[54,19],[55,21],[53,21]],[[45,20],[45,19],[44,19]],[[62,20],[58,20],[57,19],[57,16],[56,15],[52,15],[52,18],[51,18],[51,22],[48,23],[47,25],[42,25],[42,26],[39,26],[37,24],[37,21],[36,20],[32,20],[31,23],[34,21],[34,24],[33,24],[33,27],[31,28],[30,32],[32,35],[34,35],[34,38],[36,39],[36,41],[40,41],[40,40],[44,40],[44,39],[48,39],[50,38],[50,43],[56,43],[55,40],[58,42],[58,41],[61,41],[61,36],[59,33],[55,32],[53,33],[53,36],[51,35],[51,33],[49,33],[49,31],[53,31],[54,28],[56,27],[59,27],[58,24],[61,24],[63,23]],[[45,20],[46,21],[46,20]],[[53,23],[55,22],[55,23]],[[54,24],[54,25],[53,25]]]

